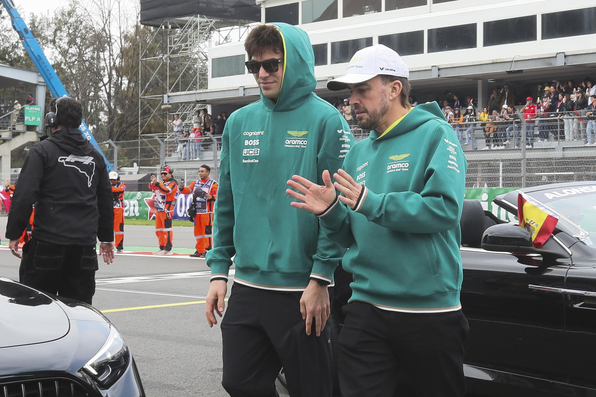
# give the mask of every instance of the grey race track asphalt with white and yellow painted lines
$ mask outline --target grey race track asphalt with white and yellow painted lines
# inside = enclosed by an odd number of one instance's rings
[[[6,221],[0,217],[0,276],[18,280],[20,261],[5,247]],[[131,252],[117,254],[110,265],[100,260],[93,305],[131,347],[148,397],[224,397],[221,332],[219,324],[210,329],[204,315],[209,268],[203,259],[188,257],[193,228],[173,229],[180,255]],[[125,226],[125,251],[154,251],[156,243],[153,227]],[[278,391],[288,396],[279,385]]]

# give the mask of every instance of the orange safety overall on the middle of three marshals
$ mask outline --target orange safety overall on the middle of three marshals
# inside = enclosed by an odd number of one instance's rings
[[[157,185],[149,184],[155,194],[155,234],[159,241],[159,248],[164,251],[172,251],[172,215],[176,205],[176,193],[178,193],[178,182],[170,179]]]

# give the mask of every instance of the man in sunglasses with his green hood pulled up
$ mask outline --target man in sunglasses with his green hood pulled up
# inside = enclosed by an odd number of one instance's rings
[[[224,311],[222,385],[231,396],[275,396],[282,365],[291,396],[331,396],[327,287],[345,249],[318,218],[290,206],[285,181],[295,173],[322,183],[353,143],[339,111],[313,93],[308,35],[278,23],[256,27],[245,43],[246,67],[260,101],[235,111],[222,136],[206,317]]]

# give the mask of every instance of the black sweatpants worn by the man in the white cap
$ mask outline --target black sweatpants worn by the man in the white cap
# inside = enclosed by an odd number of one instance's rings
[[[401,371],[418,397],[464,396],[468,321],[461,310],[410,314],[351,302],[344,311],[339,336],[342,397],[391,397]]]

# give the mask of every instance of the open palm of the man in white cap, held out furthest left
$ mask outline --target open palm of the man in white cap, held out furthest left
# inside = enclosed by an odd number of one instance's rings
[[[292,189],[287,189],[285,192],[298,201],[292,202],[291,206],[302,208],[313,214],[321,214],[321,212],[327,210],[336,200],[337,193],[333,183],[331,183],[329,171],[323,171],[322,178],[325,183],[324,186],[317,185],[299,175],[292,176],[292,179],[288,180],[288,186],[297,190],[297,192]]]

